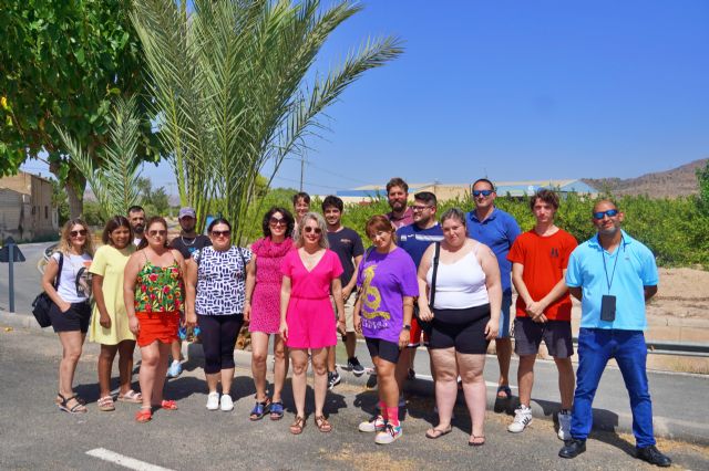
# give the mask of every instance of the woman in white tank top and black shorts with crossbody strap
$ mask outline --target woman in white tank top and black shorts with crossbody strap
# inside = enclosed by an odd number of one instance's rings
[[[441,216],[441,226],[438,268],[436,244],[427,249],[419,265],[419,310],[423,321],[432,321],[429,352],[439,409],[439,425],[429,429],[427,437],[435,439],[451,431],[460,375],[473,425],[467,444],[482,446],[486,405],[483,369],[487,344],[497,336],[500,325],[500,268],[487,245],[467,238],[463,211],[449,209]],[[435,293],[431,293],[433,285]]]

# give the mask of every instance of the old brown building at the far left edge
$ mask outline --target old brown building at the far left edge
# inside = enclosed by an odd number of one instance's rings
[[[32,241],[59,232],[52,182],[23,171],[0,178],[0,239]]]

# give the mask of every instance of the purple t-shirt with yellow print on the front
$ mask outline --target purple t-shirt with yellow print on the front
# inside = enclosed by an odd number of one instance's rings
[[[403,327],[403,296],[418,296],[417,266],[400,248],[389,253],[367,251],[357,271],[362,286],[362,334],[399,343]]]

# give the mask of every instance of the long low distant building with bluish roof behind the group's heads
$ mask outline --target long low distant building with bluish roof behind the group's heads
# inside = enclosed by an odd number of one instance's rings
[[[526,180],[526,181],[493,181],[497,189],[497,196],[510,195],[513,198],[523,198],[534,193],[540,188],[552,188],[564,195],[574,192],[582,195],[596,196],[598,190],[589,185],[584,184],[582,180]],[[431,191],[440,201],[448,201],[451,199],[460,198],[467,199],[472,190],[471,184],[409,184],[409,200],[413,201],[413,195],[419,191]],[[383,185],[366,185],[362,187],[352,188],[349,190],[337,191],[336,195],[342,199],[342,201],[366,203],[378,197],[387,197],[387,186]]]

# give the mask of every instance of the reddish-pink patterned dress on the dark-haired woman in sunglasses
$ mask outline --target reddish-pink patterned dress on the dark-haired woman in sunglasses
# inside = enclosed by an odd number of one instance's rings
[[[280,264],[286,253],[294,250],[292,240],[274,243],[269,238],[251,245],[256,255],[256,286],[251,294],[251,318],[248,332],[278,334],[280,327]]]

